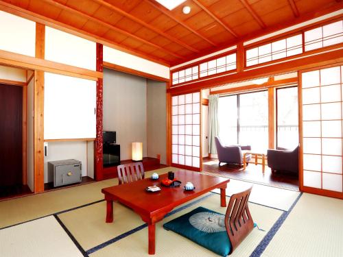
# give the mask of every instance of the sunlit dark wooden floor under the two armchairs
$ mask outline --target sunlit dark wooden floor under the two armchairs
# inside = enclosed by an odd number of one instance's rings
[[[220,164],[221,166],[219,167],[218,163],[218,160],[215,158],[204,158],[202,161],[202,171],[237,180],[256,182],[257,184],[267,184],[292,190],[299,189],[299,180],[296,176],[278,172],[272,174],[268,166],[265,166],[265,173],[263,173],[261,164],[249,163],[244,171],[242,168],[224,163]]]

